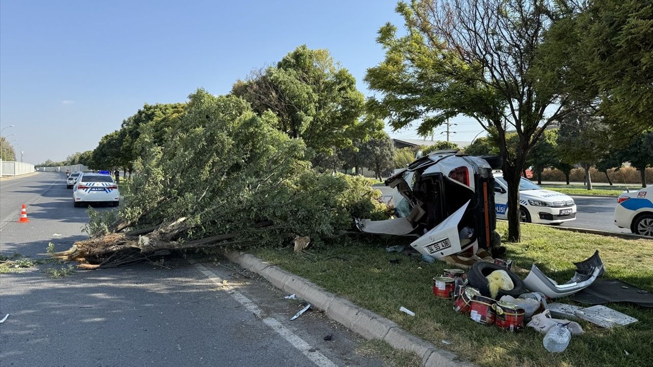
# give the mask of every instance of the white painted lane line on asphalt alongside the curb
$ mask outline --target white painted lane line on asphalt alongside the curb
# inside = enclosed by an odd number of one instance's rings
[[[274,317],[266,317],[263,313],[263,310],[259,308],[254,302],[252,302],[249,298],[247,298],[245,295],[242,293],[236,291],[235,289],[232,289],[228,285],[225,285],[223,283],[223,279],[217,276],[214,272],[211,270],[208,270],[204,266],[195,263],[195,261],[191,261],[193,266],[199,270],[200,273],[202,273],[206,278],[208,278],[212,283],[217,285],[218,287],[222,287],[227,291],[227,294],[229,294],[234,300],[236,300],[238,303],[242,304],[245,306],[245,308],[259,317],[263,321],[265,325],[268,325],[268,327],[272,328],[277,334],[282,336],[287,342],[291,343],[295,349],[298,351],[302,352],[303,355],[305,355],[308,359],[311,360],[316,366],[319,367],[337,367],[337,365],[332,362],[330,359],[325,357],[322,353],[319,351],[316,351],[311,347],[309,343],[304,341],[302,338],[297,336],[295,333],[293,333],[289,328],[284,327],[277,319]]]

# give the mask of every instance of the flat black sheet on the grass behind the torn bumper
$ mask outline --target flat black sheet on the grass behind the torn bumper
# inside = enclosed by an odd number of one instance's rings
[[[619,279],[596,279],[592,285],[571,296],[571,299],[590,305],[628,302],[653,308],[653,294]]]

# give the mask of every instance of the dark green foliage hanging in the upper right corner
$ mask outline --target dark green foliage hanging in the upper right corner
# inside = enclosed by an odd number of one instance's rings
[[[596,103],[628,142],[652,127],[653,3],[641,0],[567,1],[567,16],[550,31],[550,57],[575,99]]]

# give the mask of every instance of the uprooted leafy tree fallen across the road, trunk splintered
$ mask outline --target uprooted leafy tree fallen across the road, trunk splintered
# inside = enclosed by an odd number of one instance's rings
[[[304,142],[276,129],[271,112],[202,89],[189,99],[166,139],[142,126],[138,175],[119,212],[91,211],[90,238],[56,257],[114,266],[216,244],[319,243],[351,228],[352,217],[384,215],[368,180],[313,170]]]

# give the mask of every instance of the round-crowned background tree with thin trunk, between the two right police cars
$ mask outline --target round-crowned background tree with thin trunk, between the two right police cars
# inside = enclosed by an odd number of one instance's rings
[[[590,168],[607,151],[607,127],[592,111],[577,109],[561,120],[558,154],[569,164],[580,163],[585,170],[587,189],[592,189]]]

